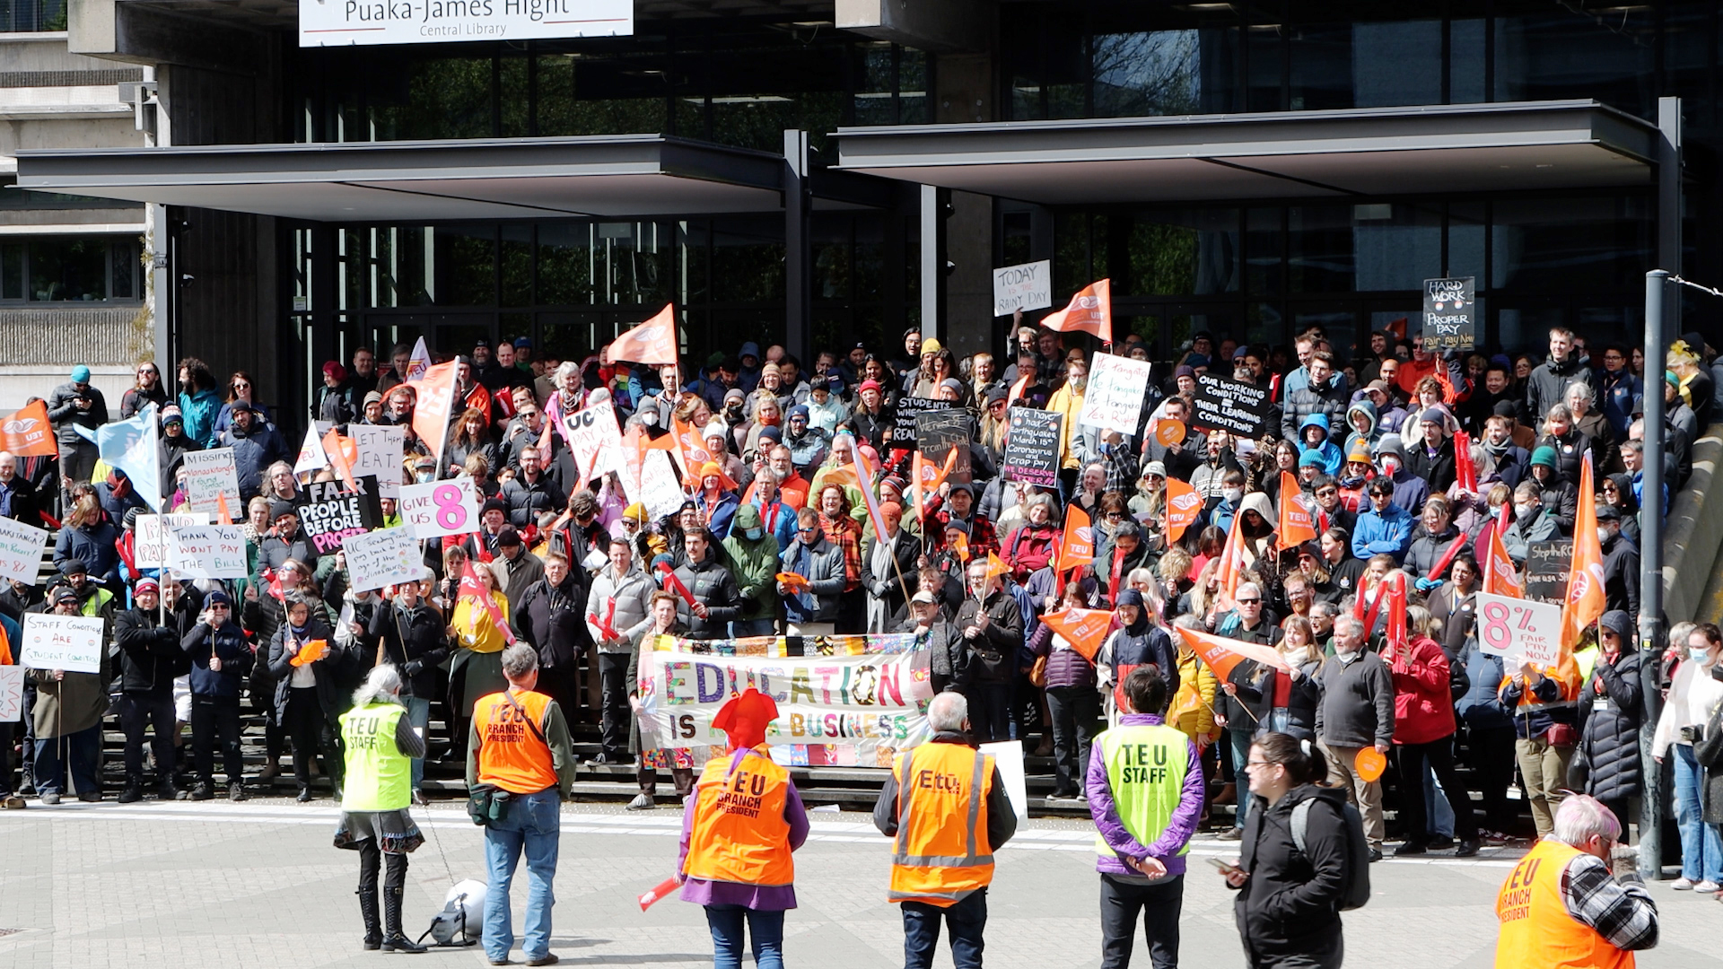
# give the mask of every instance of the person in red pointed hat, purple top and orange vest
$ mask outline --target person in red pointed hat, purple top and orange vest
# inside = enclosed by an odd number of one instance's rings
[[[706,907],[712,964],[739,969],[743,922],[758,969],[784,967],[784,910],[796,907],[791,852],[808,840],[808,812],[772,760],[765,726],[777,703],[750,688],[718,710],[712,726],[731,747],[706,762],[682,816],[682,900]]]

